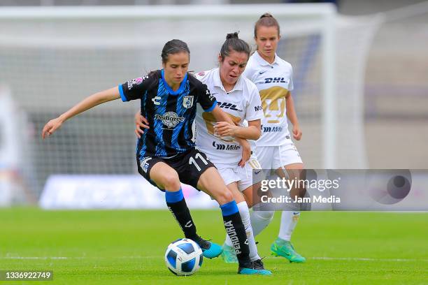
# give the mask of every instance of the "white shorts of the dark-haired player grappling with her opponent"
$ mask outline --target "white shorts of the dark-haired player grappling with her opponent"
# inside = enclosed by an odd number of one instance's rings
[[[228,164],[216,164],[218,172],[224,180],[224,184],[229,185],[233,182],[238,182],[239,191],[244,191],[252,184],[256,184],[264,180],[264,172],[259,161],[253,156],[250,158],[244,167],[232,166]],[[253,181],[252,170],[255,169],[255,177]],[[259,169],[259,172],[257,171]]]

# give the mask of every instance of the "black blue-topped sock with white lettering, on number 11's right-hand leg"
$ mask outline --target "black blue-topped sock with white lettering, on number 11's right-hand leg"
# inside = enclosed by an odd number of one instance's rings
[[[221,205],[220,208],[222,209],[224,228],[226,228],[226,233],[234,246],[239,266],[250,268],[250,247],[248,247],[247,234],[235,200]]]

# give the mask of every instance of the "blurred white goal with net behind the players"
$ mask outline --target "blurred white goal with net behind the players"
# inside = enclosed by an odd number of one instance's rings
[[[217,66],[229,32],[255,47],[263,13],[281,28],[278,55],[294,68],[292,92],[304,136],[306,168],[364,168],[362,96],[366,52],[376,19],[341,19],[329,4],[115,6],[0,9],[0,84],[26,113],[39,193],[52,174],[136,173],[134,113],[139,102],[113,101],[71,119],[48,140],[49,119],[94,92],[162,68],[166,41],[191,51],[190,70]]]

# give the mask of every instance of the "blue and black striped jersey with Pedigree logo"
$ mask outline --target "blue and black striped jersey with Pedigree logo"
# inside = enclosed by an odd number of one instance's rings
[[[119,85],[122,101],[141,100],[141,115],[148,119],[150,129],[138,139],[136,154],[171,157],[194,147],[192,123],[196,103],[206,112],[216,105],[206,85],[186,74],[180,88],[173,91],[164,79],[164,71],[154,71]]]

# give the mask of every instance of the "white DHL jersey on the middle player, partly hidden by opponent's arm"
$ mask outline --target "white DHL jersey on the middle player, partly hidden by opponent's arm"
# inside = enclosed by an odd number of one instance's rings
[[[234,89],[226,92],[220,80],[219,68],[197,73],[197,79],[203,82],[217,99],[217,105],[227,112],[232,121],[243,126],[243,121],[263,119],[262,102],[257,87],[241,76]],[[217,164],[237,164],[242,157],[241,145],[231,137],[221,137],[214,133],[216,120],[211,112],[204,112],[197,105],[196,144],[208,159]]]

